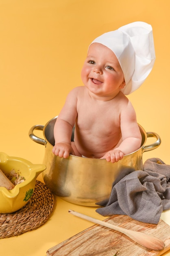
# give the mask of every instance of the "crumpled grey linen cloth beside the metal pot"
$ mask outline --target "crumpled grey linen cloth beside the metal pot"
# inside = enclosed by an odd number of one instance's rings
[[[102,216],[128,215],[134,220],[157,224],[162,211],[170,209],[170,165],[150,158],[144,170],[128,170],[113,183],[110,198],[96,210]]]

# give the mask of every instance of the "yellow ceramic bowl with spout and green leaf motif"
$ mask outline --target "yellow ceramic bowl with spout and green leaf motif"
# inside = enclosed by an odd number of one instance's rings
[[[8,190],[0,186],[0,213],[12,213],[27,204],[35,189],[37,176],[46,169],[44,164],[32,164],[20,157],[10,157],[0,152],[0,169],[9,173],[19,171],[25,181]]]

